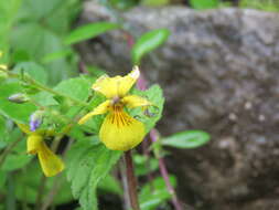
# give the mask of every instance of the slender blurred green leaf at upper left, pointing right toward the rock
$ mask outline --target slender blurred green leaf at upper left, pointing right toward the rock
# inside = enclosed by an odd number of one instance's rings
[[[105,33],[107,31],[118,29],[119,24],[111,23],[111,22],[97,22],[97,23],[90,23],[83,27],[79,27],[72,31],[69,35],[65,39],[66,44],[75,44],[77,42],[93,39],[97,35],[100,35],[101,33]]]

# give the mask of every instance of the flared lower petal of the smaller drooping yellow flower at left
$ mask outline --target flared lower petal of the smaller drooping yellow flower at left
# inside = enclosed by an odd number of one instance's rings
[[[53,177],[65,168],[64,162],[45,145],[44,141],[41,144],[37,157],[46,177]]]

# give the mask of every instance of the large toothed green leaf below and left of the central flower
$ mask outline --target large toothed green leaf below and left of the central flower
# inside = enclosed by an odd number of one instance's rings
[[[67,179],[72,183],[74,198],[79,200],[84,210],[97,210],[96,188],[120,155],[90,140],[77,143],[67,154]]]

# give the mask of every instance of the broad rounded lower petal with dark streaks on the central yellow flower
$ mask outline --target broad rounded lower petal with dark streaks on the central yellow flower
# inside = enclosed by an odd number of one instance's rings
[[[110,112],[105,118],[99,137],[111,150],[129,150],[144,137],[144,125],[124,111]]]

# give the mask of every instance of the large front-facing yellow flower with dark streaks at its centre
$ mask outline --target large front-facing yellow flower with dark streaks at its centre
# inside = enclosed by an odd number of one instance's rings
[[[92,86],[96,92],[107,97],[93,112],[82,117],[78,124],[84,124],[94,115],[107,114],[104,119],[99,138],[111,150],[129,150],[140,144],[146,135],[144,125],[125,112],[125,107],[148,107],[149,101],[128,92],[139,78],[138,66],[126,76],[99,77]]]

